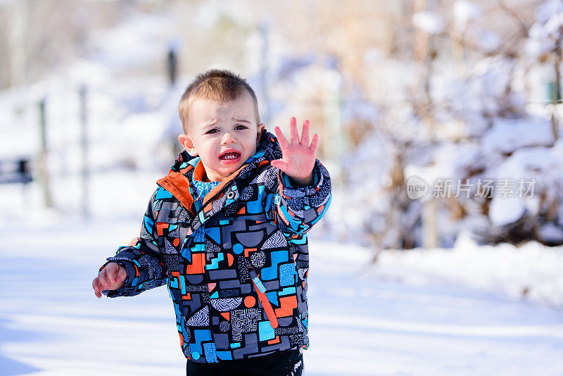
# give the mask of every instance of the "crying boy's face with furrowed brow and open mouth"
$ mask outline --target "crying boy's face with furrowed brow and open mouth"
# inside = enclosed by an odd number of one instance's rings
[[[234,101],[196,99],[189,111],[189,134],[180,144],[199,156],[208,180],[221,182],[256,152],[264,125],[255,120],[254,101],[245,93]]]

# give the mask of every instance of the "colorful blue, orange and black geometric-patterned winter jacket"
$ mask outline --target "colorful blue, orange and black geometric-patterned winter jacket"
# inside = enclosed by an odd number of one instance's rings
[[[312,185],[292,185],[270,166],[277,158],[279,144],[264,132],[255,155],[196,211],[191,181],[201,180],[203,165],[180,153],[157,182],[140,236],[107,258],[127,270],[125,286],[103,294],[134,296],[166,283],[192,361],[307,349],[305,232],[327,211],[331,182],[317,160]]]

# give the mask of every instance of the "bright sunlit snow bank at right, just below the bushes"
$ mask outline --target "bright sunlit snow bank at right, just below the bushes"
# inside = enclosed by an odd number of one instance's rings
[[[479,246],[462,232],[452,249],[385,251],[370,276],[405,284],[429,283],[471,287],[497,298],[528,301],[560,310],[563,293],[561,247],[537,242],[522,246]]]

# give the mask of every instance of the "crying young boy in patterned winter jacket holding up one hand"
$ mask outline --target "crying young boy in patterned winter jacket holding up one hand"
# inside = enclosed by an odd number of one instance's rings
[[[307,232],[331,183],[317,134],[291,142],[260,124],[253,89],[210,70],[179,104],[184,134],[158,180],[140,237],[109,257],[97,297],[167,284],[187,375],[301,375],[307,349]],[[279,144],[278,144],[279,142]]]

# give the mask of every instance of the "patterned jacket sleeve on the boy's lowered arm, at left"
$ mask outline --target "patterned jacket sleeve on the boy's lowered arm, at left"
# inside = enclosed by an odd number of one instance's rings
[[[102,294],[110,298],[138,295],[148,289],[162,286],[166,282],[165,263],[158,247],[155,225],[154,208],[157,192],[148,203],[139,237],[133,239],[129,245],[121,246],[115,256],[108,257],[108,262],[99,270],[101,272],[108,263],[118,263],[127,270],[127,279],[121,289],[102,291]]]

